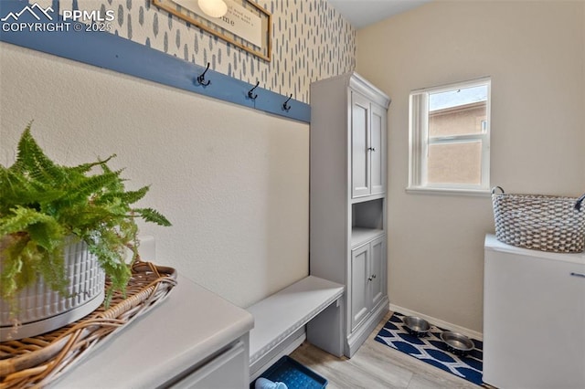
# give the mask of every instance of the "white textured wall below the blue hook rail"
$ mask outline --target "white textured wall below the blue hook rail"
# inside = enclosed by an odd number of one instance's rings
[[[152,184],[157,263],[239,306],[307,275],[307,124],[0,43],[0,163],[32,119],[59,163],[117,153]]]

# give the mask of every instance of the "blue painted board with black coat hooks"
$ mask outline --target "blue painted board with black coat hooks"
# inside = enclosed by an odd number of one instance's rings
[[[2,1],[0,17],[10,12],[19,12],[26,2]],[[57,12],[56,12],[57,14]],[[54,21],[57,17],[54,17]],[[18,22],[37,23],[32,16],[23,14]],[[48,21],[45,21],[47,23]],[[58,22],[63,22],[58,16]],[[7,22],[0,22],[7,23]],[[52,23],[52,22],[50,22]],[[75,31],[73,23],[69,31],[0,31],[0,40],[21,47],[69,58],[100,68],[107,68],[140,79],[149,79],[170,87],[184,89],[201,95],[224,100],[255,110],[262,110],[296,121],[309,122],[311,107],[299,100],[289,100],[290,110],[284,110],[282,104],[289,97],[268,89],[258,87],[254,94],[256,100],[248,98],[248,90],[254,87],[247,82],[233,79],[227,75],[207,70],[207,87],[197,83],[197,76],[205,71],[204,67],[186,62],[184,59],[170,56],[153,48],[135,43],[107,32]]]

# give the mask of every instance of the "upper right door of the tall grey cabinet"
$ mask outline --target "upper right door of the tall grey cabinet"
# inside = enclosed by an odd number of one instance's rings
[[[370,193],[383,194],[386,188],[386,113],[387,111],[371,105],[370,145]]]

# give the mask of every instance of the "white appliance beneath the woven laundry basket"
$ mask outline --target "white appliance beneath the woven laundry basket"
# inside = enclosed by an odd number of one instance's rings
[[[585,388],[585,253],[485,237],[484,383]]]

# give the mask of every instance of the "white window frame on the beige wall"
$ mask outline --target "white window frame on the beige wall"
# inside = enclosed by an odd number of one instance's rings
[[[452,89],[465,89],[478,86],[487,87],[485,101],[485,130],[475,134],[436,136],[429,138],[429,95]],[[490,195],[490,138],[491,138],[491,89],[490,77],[472,79],[452,84],[441,85],[410,92],[409,97],[409,185],[410,193],[437,193],[460,195]],[[462,142],[482,143],[480,184],[442,184],[426,181],[430,144],[448,144]]]

